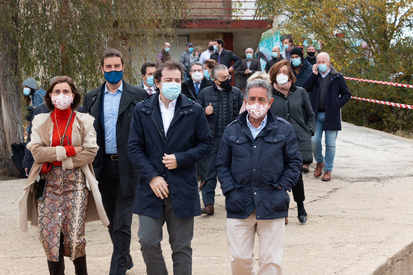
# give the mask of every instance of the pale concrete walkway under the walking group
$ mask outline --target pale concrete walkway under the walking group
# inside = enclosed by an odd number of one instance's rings
[[[309,214],[306,223],[300,224],[295,218],[296,205],[290,194],[282,259],[284,274],[390,274],[390,266],[394,268],[412,258],[409,255],[413,251],[413,140],[343,122],[336,145],[332,181],[316,179],[312,172],[304,175],[305,207]],[[47,274],[37,228],[29,226],[27,233],[19,234],[17,200],[23,186],[24,180],[0,181],[0,274]],[[216,214],[195,218],[193,274],[231,273],[224,197],[219,186],[216,191]],[[145,274],[138,226],[134,216],[131,255],[135,266],[128,275]],[[106,228],[98,222],[88,223],[86,240],[89,274],[108,274],[112,244]],[[162,249],[172,274],[166,226]],[[74,274],[69,259],[66,274]],[[413,274],[413,270],[398,274]]]

